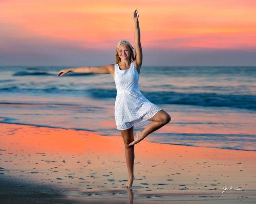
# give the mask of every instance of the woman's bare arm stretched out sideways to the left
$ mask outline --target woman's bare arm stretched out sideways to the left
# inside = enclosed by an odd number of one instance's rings
[[[101,73],[101,74],[107,74],[111,73],[113,69],[114,64],[105,65],[102,67],[77,67],[77,68],[69,68],[69,69],[62,69],[58,72],[58,76],[62,76],[69,72],[75,72],[75,73]]]

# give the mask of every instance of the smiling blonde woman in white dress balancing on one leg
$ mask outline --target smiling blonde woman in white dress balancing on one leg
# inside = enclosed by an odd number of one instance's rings
[[[134,11],[135,22],[135,52],[129,41],[122,40],[116,47],[115,64],[102,67],[78,67],[59,71],[58,76],[68,72],[112,74],[115,80],[117,96],[115,101],[115,121],[120,130],[124,146],[126,165],[129,172],[129,181],[125,185],[130,188],[134,177],[134,145],[147,135],[158,130],[170,121],[170,115],[163,109],[151,103],[139,90],[139,74],[142,65],[142,48],[140,43],[140,28],[137,15]],[[147,126],[145,126],[147,125]],[[134,140],[134,127],[144,127],[136,132]]]

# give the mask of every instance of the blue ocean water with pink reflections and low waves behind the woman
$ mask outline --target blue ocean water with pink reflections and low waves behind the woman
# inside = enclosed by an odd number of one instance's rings
[[[59,66],[1,66],[0,122],[120,136],[111,74]],[[256,67],[142,66],[139,87],[172,120],[155,143],[256,151]]]

